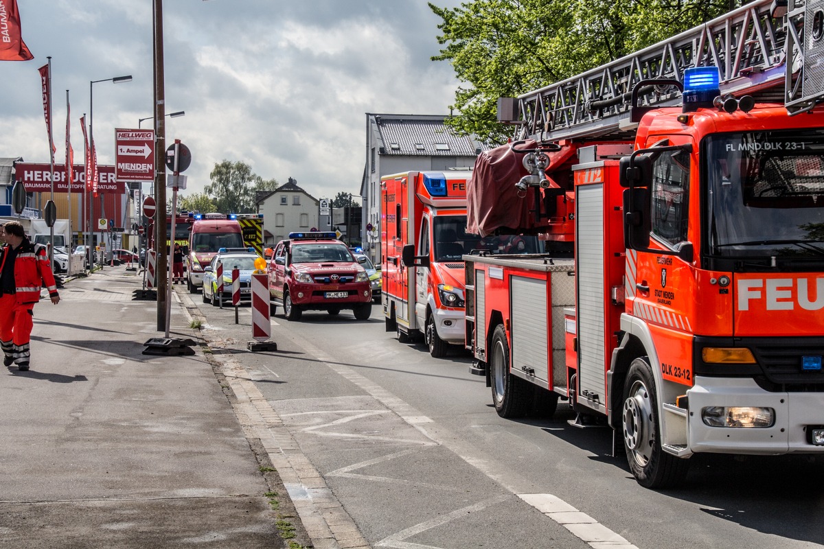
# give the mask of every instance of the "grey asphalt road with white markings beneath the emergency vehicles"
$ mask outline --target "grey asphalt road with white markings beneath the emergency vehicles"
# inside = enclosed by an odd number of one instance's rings
[[[182,288],[179,291],[185,292]],[[188,294],[187,294],[188,295]],[[372,547],[822,547],[824,463],[697,456],[686,486],[639,486],[611,430],[510,421],[460,350],[436,360],[372,319],[273,319],[277,352],[242,352],[250,308],[190,295]],[[824,404],[824,402],[822,402]],[[293,494],[294,495],[294,494]]]

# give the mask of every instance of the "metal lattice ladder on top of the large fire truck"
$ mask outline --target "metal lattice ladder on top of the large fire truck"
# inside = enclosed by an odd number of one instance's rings
[[[824,54],[824,0],[788,2],[751,2],[578,76],[517,98],[502,98],[499,121],[518,124],[515,139],[631,137],[645,110],[681,101],[681,93],[672,86],[649,81],[681,82],[684,69],[702,66],[719,67],[722,95],[746,93],[759,102],[783,101],[790,114],[806,112],[824,97],[824,67],[817,61]],[[630,101],[641,82],[637,100]]]

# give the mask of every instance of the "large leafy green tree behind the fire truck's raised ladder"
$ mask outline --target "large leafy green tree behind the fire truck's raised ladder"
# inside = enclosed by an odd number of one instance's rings
[[[462,82],[447,123],[458,133],[503,143],[499,97],[573,77],[742,5],[739,0],[474,0],[441,8],[433,61],[452,63]]]

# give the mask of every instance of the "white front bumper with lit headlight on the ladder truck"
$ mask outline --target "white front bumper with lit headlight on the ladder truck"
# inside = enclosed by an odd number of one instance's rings
[[[770,393],[753,379],[696,376],[687,396],[692,452],[824,454],[822,393]]]

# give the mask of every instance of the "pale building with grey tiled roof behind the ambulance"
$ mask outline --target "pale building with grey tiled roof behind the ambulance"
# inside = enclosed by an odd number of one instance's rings
[[[361,183],[363,249],[381,257],[381,178],[410,170],[442,171],[475,165],[485,147],[447,127],[445,114],[366,114],[366,163]],[[368,225],[372,230],[367,230]]]

